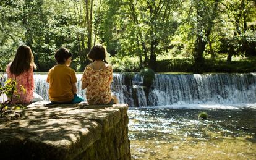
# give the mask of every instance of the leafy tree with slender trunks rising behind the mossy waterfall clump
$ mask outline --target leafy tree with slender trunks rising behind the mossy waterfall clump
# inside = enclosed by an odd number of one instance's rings
[[[135,38],[132,39],[137,43],[137,51],[143,51],[143,55],[137,54],[143,65],[155,69],[157,55],[162,54],[163,48],[169,45],[166,41],[171,40],[177,29],[177,22],[173,20],[172,12],[178,3],[179,1],[169,0],[127,2],[133,23],[132,30],[135,32],[133,34]]]

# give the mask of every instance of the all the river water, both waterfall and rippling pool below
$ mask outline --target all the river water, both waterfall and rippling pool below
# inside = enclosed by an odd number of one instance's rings
[[[47,100],[46,75],[35,86]],[[114,74],[111,88],[130,106],[132,159],[256,159],[255,73],[156,74],[148,95],[139,75]]]

